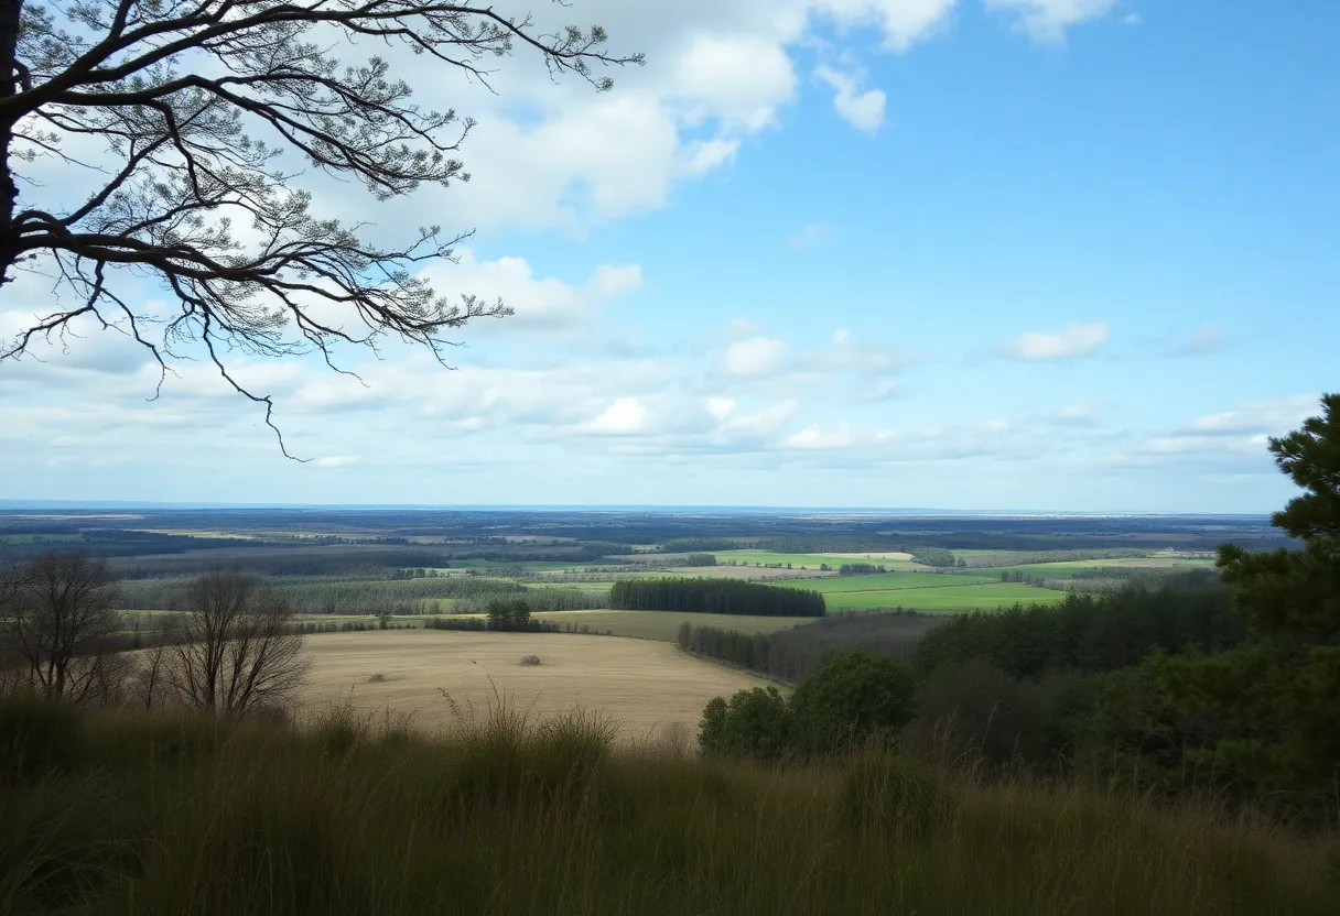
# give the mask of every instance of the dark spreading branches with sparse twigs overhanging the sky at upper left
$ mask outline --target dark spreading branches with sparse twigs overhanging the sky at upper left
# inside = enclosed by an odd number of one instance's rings
[[[434,79],[485,84],[484,59],[517,46],[598,90],[611,83],[595,67],[641,62],[606,54],[599,27],[537,33],[529,17],[441,0],[0,0],[0,288],[16,269],[50,268],[60,297],[0,360],[91,316],[163,374],[181,347],[201,347],[271,423],[269,396],[234,380],[228,351],[332,364],[334,344],[375,350],[390,335],[441,360],[445,331],[508,315],[414,276],[464,236],[431,226],[402,246],[368,244],[362,226],[314,214],[299,173],[280,167],[292,153],[379,198],[469,178],[456,154],[473,122],[410,102],[383,58],[338,56],[359,42],[407,48],[438,64]],[[34,198],[23,169],[42,159],[68,167],[60,183],[76,200]],[[146,311],[135,277],[180,308]]]

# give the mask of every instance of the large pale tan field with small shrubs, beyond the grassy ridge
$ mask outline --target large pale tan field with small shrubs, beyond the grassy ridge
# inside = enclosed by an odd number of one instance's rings
[[[371,712],[409,714],[422,729],[454,720],[442,691],[462,712],[482,712],[496,690],[536,716],[575,706],[602,710],[624,738],[642,739],[666,729],[695,730],[713,696],[766,683],[667,643],[567,633],[328,633],[308,640],[307,655],[312,670],[300,700],[307,715],[348,700]],[[521,666],[523,655],[543,663]],[[373,675],[386,680],[370,683]]]

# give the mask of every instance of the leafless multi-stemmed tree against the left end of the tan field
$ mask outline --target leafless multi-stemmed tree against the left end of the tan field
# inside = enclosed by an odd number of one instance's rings
[[[289,607],[236,569],[192,583],[166,676],[188,704],[222,715],[283,706],[307,674]]]

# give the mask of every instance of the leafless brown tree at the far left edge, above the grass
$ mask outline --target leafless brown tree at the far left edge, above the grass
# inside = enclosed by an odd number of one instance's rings
[[[106,688],[121,628],[106,560],[60,550],[19,566],[0,607],[0,650],[47,696],[80,702]]]

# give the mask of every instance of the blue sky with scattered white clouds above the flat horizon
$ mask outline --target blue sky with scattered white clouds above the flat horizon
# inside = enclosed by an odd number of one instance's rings
[[[0,367],[0,498],[1268,512],[1290,494],[1265,437],[1340,386],[1340,7],[559,12],[646,66],[599,96],[524,59],[496,96],[461,88],[469,185],[386,205],[314,187],[387,237],[478,229],[430,275],[517,315],[462,331],[457,371],[350,354],[364,387],[240,356],[314,459],[295,465],[198,364],[145,403],[142,356],[88,328]],[[43,305],[34,283],[5,296],[0,335]]]

